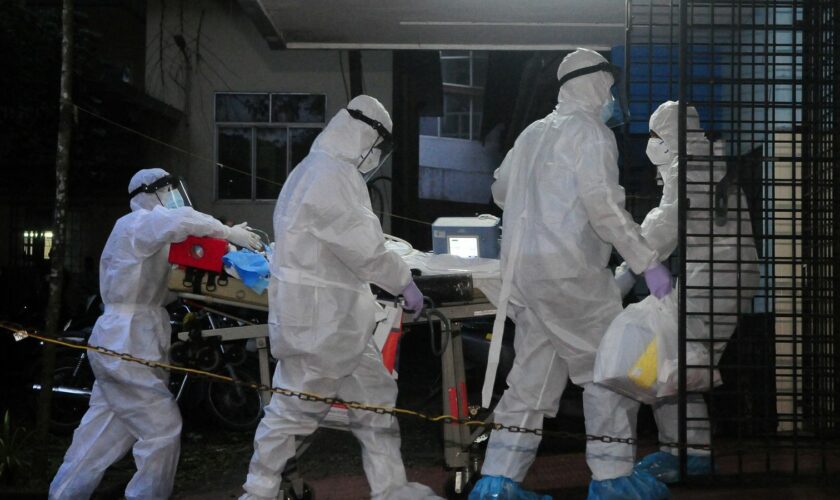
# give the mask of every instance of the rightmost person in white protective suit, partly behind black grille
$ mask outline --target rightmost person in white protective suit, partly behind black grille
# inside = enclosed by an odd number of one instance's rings
[[[660,258],[667,259],[678,243],[678,171],[679,103],[668,101],[650,117],[650,140],[647,155],[663,181],[662,199],[642,223],[642,235],[653,245]],[[712,156],[713,149],[704,137],[700,117],[693,106],[686,107],[686,153]],[[723,161],[696,160],[686,169],[689,210],[686,220],[686,311],[689,337],[714,339],[711,362],[717,365],[726,341],[732,336],[740,312],[749,311],[750,301],[759,282],[758,254],[746,198],[740,189],[729,189],[725,220],[716,221],[711,200],[726,174]],[[714,249],[710,252],[710,249]],[[626,295],[635,283],[626,263],[616,268],[615,279]],[[713,296],[714,301],[709,300]],[[740,301],[739,301],[740,296]],[[740,302],[740,303],[739,303]],[[675,332],[676,334],[676,332]],[[708,347],[708,346],[707,346]],[[678,441],[677,403],[666,398],[654,405],[654,416],[661,443]],[[709,416],[700,394],[688,395],[687,443],[708,445]],[[648,455],[636,470],[646,471],[663,482],[679,480],[678,449],[662,446]],[[688,449],[688,474],[711,472],[709,451]]]

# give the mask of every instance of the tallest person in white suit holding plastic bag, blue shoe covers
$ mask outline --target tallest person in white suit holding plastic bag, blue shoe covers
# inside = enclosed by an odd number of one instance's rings
[[[621,295],[607,267],[611,245],[635,272],[645,273],[654,293],[669,293],[671,281],[624,210],[618,149],[604,123],[611,114],[615,74],[616,68],[594,51],[578,49],[566,56],[557,70],[557,107],[520,134],[496,171],[493,197],[504,208],[496,322],[504,321],[507,311],[516,324],[516,357],[508,389],[495,408],[496,423],[541,429],[545,417],[556,415],[571,378],[584,388],[587,434],[628,437],[635,427],[634,402],[592,383],[601,337],[621,312]],[[494,430],[484,477],[470,499],[540,498],[519,486],[540,439]],[[609,486],[632,473],[632,458],[612,459],[616,445],[587,441],[593,483]],[[667,492],[650,476],[633,480],[644,491]]]

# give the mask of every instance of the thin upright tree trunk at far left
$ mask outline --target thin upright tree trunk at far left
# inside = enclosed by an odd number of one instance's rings
[[[70,146],[73,141],[73,0],[64,0],[61,10],[61,86],[59,90],[58,145],[55,158],[55,214],[53,247],[50,256],[50,298],[46,311],[46,336],[56,337],[61,315],[64,287],[64,238],[67,219],[67,171],[70,167]],[[49,436],[50,401],[55,349],[47,343],[44,348],[41,393],[38,399],[37,440],[34,470],[46,478],[48,473],[46,445]]]

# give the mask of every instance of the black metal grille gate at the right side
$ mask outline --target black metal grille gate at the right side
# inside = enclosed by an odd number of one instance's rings
[[[840,2],[632,0],[627,14],[625,150],[661,102],[681,105],[681,383],[723,379],[683,387],[680,442],[711,429],[717,475],[836,471]],[[687,411],[698,395],[709,416]]]

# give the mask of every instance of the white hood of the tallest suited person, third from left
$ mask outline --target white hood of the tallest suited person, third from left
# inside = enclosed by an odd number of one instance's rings
[[[590,49],[577,49],[563,58],[557,68],[560,80],[572,71],[588,68],[608,62],[604,57]],[[573,78],[560,87],[558,103],[575,103],[592,113],[601,113],[601,108],[610,100],[610,87],[615,83],[613,77],[605,71]]]

